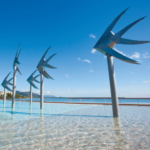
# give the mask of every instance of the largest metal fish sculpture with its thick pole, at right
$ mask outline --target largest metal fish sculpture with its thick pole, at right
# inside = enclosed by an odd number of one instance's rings
[[[128,9],[128,8],[127,8]],[[94,49],[97,51],[107,55],[107,61],[108,61],[108,70],[109,70],[109,80],[110,80],[110,88],[111,88],[111,98],[112,98],[112,109],[113,109],[113,116],[119,117],[119,107],[118,107],[118,97],[117,97],[117,88],[116,88],[116,79],[115,79],[115,71],[114,71],[114,65],[113,65],[113,57],[120,59],[122,61],[132,63],[132,64],[138,64],[137,61],[130,59],[129,57],[126,57],[125,55],[122,55],[121,53],[115,51],[113,47],[116,44],[144,44],[149,43],[150,41],[137,41],[137,40],[129,40],[122,38],[122,36],[136,23],[143,20],[145,17],[131,23],[130,25],[126,26],[124,29],[117,33],[113,33],[112,29],[116,25],[116,23],[119,21],[119,19],[122,17],[122,15],[127,11],[124,10],[105,30],[103,35],[100,37],[96,45],[94,46]]]

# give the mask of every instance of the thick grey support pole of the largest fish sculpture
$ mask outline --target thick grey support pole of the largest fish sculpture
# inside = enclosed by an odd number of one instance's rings
[[[108,71],[109,71],[113,116],[114,117],[119,117],[118,96],[117,96],[113,56],[107,54],[107,62],[108,62]]]

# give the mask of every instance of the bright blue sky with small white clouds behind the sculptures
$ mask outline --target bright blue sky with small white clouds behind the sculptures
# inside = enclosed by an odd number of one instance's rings
[[[107,59],[102,53],[94,52],[93,46],[113,19],[127,7],[129,10],[113,32],[147,16],[123,37],[150,40],[149,6],[149,0],[1,0],[1,82],[13,71],[20,42],[22,75],[17,74],[17,89],[29,91],[26,79],[51,45],[47,57],[57,53],[49,62],[57,69],[46,68],[55,80],[44,79],[45,94],[110,96]],[[134,65],[114,58],[118,96],[149,97],[150,44],[116,45],[115,48],[140,62],[140,65]],[[39,87],[38,83],[36,85]],[[38,93],[39,89],[34,92]]]

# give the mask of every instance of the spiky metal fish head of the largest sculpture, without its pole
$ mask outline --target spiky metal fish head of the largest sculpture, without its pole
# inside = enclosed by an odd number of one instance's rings
[[[126,26],[124,29],[121,31],[117,32],[114,34],[112,32],[113,28],[119,21],[119,19],[122,17],[122,15],[128,10],[124,10],[116,19],[108,26],[108,28],[105,30],[103,35],[100,37],[98,42],[95,44],[94,49],[98,50],[99,52],[107,55],[114,56],[122,61],[128,62],[128,63],[133,63],[133,64],[138,64],[137,61],[130,59],[129,57],[126,57],[122,55],[121,53],[117,52],[116,50],[113,49],[113,47],[116,44],[129,44],[129,45],[134,45],[134,44],[144,44],[144,43],[150,43],[150,41],[136,41],[136,40],[129,40],[129,39],[124,39],[122,36],[135,24],[137,24],[139,21],[143,20],[145,17],[138,19],[137,21],[131,23],[130,25]]]

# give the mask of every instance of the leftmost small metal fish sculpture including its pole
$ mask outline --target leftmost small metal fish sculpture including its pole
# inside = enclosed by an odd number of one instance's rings
[[[11,73],[11,72],[10,72],[10,73]],[[7,80],[8,76],[10,75],[10,73],[8,73],[8,75],[5,77],[5,79],[3,80],[2,84],[1,84],[1,85],[4,87],[4,101],[3,101],[4,106],[5,106],[5,102],[6,102],[6,89],[7,89],[8,91],[11,91],[11,92],[12,92],[12,90],[8,87],[8,85],[13,85],[12,83],[10,83],[10,81],[11,81],[13,78]]]

